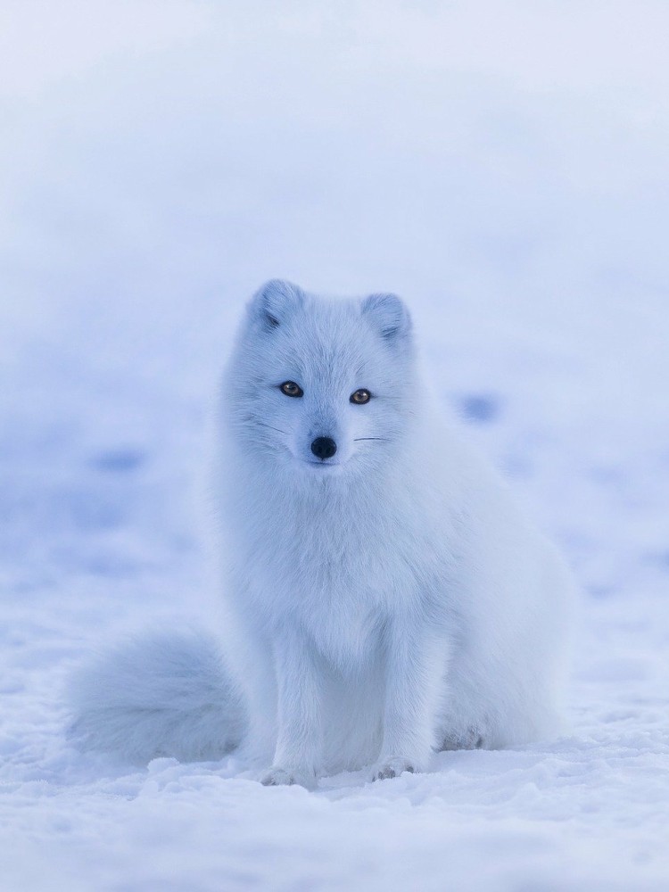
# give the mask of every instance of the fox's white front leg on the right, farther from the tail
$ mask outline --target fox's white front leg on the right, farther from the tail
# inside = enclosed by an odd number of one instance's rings
[[[373,780],[425,771],[434,747],[434,719],[446,657],[443,641],[404,626],[389,630],[384,737]]]

